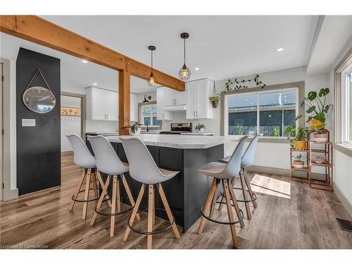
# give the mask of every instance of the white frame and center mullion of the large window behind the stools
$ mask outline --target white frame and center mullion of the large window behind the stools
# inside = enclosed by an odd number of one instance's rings
[[[256,111],[257,111],[257,122],[256,122],[256,132],[257,134],[260,133],[260,106],[259,106],[259,96],[260,94],[270,94],[270,93],[275,93],[275,92],[288,92],[288,91],[295,91],[296,92],[296,102],[295,102],[295,110],[296,110],[296,116],[299,113],[299,87],[291,87],[291,88],[283,88],[283,89],[262,89],[261,91],[256,91],[256,92],[242,92],[239,94],[225,94],[224,95],[224,101],[225,101],[225,109],[224,109],[224,134],[225,136],[241,136],[239,134],[229,134],[229,108],[228,108],[228,98],[232,96],[244,96],[244,95],[253,95],[256,94]],[[298,120],[296,120],[296,126],[298,126]],[[284,131],[283,131],[284,132]],[[273,137],[273,136],[265,136],[263,138],[267,139],[286,139],[287,136],[280,136],[280,137]]]

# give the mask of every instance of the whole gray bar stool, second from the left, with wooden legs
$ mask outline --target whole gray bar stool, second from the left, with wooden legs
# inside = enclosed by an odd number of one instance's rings
[[[90,225],[94,225],[96,216],[103,215],[111,218],[110,221],[110,237],[113,237],[115,232],[115,216],[127,213],[134,208],[134,199],[128,187],[127,181],[125,179],[125,172],[128,172],[129,165],[127,163],[122,163],[118,155],[116,154],[113,146],[111,146],[108,139],[103,136],[88,136],[89,142],[92,145],[96,157],[96,168],[108,175],[105,184],[103,184],[103,194],[108,191],[108,187],[111,181],[111,176],[113,176],[113,196],[111,197],[111,213],[102,213],[99,209],[101,208],[101,203],[104,201],[104,196],[100,196],[98,203],[90,222]],[[126,210],[121,210],[121,196],[120,196],[120,180],[125,187],[128,199],[130,200],[131,207]],[[117,207],[117,212],[116,212]],[[137,214],[137,219],[141,219]]]

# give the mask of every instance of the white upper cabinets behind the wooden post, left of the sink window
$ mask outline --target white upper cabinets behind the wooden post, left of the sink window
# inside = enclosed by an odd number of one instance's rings
[[[88,87],[86,95],[87,119],[118,121],[118,92]],[[131,94],[130,99],[130,120],[137,122],[137,95]]]

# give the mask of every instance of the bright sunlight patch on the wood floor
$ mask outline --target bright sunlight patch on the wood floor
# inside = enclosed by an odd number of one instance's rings
[[[254,192],[291,199],[291,183],[256,174],[251,180]]]

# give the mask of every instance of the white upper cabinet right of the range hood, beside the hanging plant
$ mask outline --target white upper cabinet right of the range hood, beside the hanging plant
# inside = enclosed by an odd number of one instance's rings
[[[209,97],[213,94],[213,81],[209,79],[186,82],[186,118],[213,118]]]

